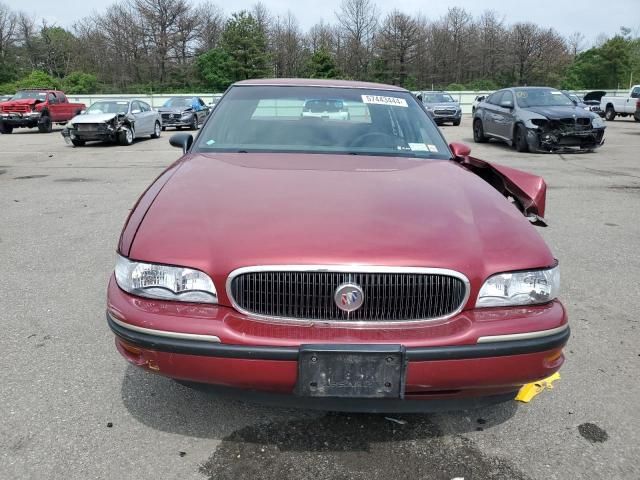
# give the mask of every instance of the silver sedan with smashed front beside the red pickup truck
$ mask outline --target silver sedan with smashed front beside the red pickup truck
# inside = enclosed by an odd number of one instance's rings
[[[136,138],[160,137],[160,114],[141,100],[96,102],[71,119],[62,130],[67,143],[82,147],[86,142],[117,142],[131,145]]]

